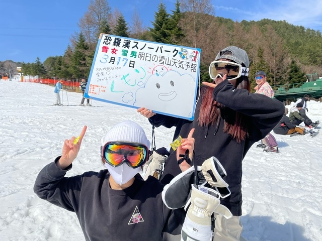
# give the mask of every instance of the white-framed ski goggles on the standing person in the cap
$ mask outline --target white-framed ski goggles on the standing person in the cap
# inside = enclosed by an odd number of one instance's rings
[[[213,61],[209,65],[210,78],[216,79],[227,75],[227,80],[233,80],[239,78],[241,75],[248,76],[249,68],[245,68],[240,64],[230,61]]]

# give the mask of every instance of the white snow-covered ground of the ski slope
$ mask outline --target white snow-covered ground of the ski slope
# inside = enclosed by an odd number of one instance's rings
[[[92,101],[95,107],[78,106],[82,95],[73,92],[62,93],[69,106],[52,106],[53,89],[0,81],[0,240],[85,240],[74,213],[33,192],[38,172],[84,125],[81,151],[67,175],[103,169],[101,137],[125,119],[137,122],[151,138],[151,126],[135,109],[99,101]],[[312,121],[322,121],[322,103],[308,105]],[[156,147],[169,149],[173,133],[155,129]],[[264,153],[255,144],[243,163],[243,236],[249,241],[321,240],[322,136],[273,135],[280,153]]]

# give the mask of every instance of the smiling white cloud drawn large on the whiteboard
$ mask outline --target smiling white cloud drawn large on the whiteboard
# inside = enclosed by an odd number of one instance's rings
[[[195,78],[168,71],[163,75],[151,75],[135,93],[137,107],[146,107],[160,112],[186,116],[195,101]]]

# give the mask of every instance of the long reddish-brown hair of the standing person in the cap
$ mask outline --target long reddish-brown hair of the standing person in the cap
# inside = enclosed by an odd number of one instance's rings
[[[247,89],[250,92],[250,81],[247,76],[240,76],[236,82],[237,89]],[[199,113],[199,126],[210,126],[219,124],[221,118],[221,110],[227,108],[221,103],[213,100],[212,97],[213,88],[207,87],[207,90],[204,91],[202,103],[200,106]],[[231,110],[231,109],[230,109]],[[235,113],[235,118],[233,123],[228,123],[224,119],[224,128],[223,131],[231,136],[232,139],[235,139],[237,143],[245,140],[248,135],[247,130],[247,116],[239,112],[233,111]]]

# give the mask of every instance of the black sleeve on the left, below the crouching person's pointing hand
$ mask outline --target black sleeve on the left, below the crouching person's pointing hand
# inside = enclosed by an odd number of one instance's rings
[[[80,187],[77,188],[81,185],[81,176],[64,177],[66,172],[71,169],[71,165],[65,170],[60,169],[56,165],[59,158],[60,156],[39,172],[35,181],[34,192],[41,199],[75,212],[74,208],[75,203],[79,200],[77,197],[79,192],[73,190],[81,190]]]

